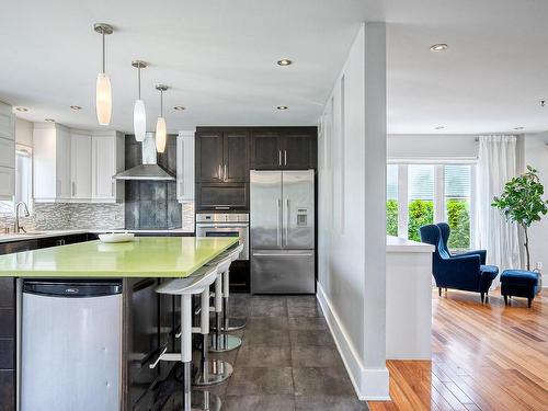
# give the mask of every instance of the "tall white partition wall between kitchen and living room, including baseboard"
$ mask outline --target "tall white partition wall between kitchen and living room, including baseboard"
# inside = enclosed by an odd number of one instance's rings
[[[318,299],[362,399],[388,398],[385,33],[362,26],[319,121]]]

